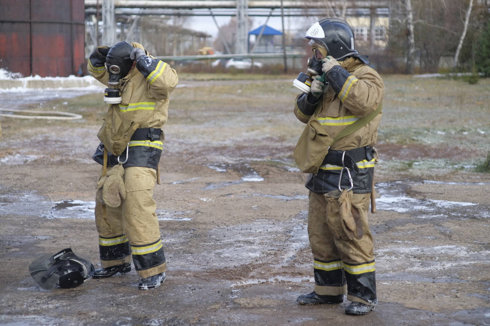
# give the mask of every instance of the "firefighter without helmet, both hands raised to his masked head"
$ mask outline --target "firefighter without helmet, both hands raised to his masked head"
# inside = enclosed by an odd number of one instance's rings
[[[167,265],[152,195],[159,182],[161,128],[178,77],[141,44],[126,42],[97,47],[88,71],[110,87],[98,132],[101,143],[93,156],[103,165],[95,209],[102,268],[93,278],[129,272],[132,258],[141,277],[139,289],[156,288],[165,280]]]

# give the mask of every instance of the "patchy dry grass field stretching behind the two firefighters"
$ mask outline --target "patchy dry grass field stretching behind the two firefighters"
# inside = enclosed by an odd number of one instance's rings
[[[273,79],[266,79],[269,77]],[[292,161],[292,146],[304,127],[293,115],[298,93],[292,86],[294,77],[181,74],[181,84],[192,83],[172,93],[166,126],[171,152],[198,151],[205,155],[206,151],[199,148],[205,144],[210,153],[216,148],[221,157],[237,155],[226,154],[221,150],[225,147],[256,159]],[[391,75],[384,76],[384,81],[386,94],[377,147],[385,169],[413,174],[427,169],[435,173],[438,169],[443,173],[472,171],[484,161],[490,152],[490,79],[470,85],[462,80]],[[46,108],[81,114],[84,119],[0,117],[4,139],[45,126],[98,128],[105,111],[101,94],[54,100],[45,103]],[[280,150],[272,150],[271,144]],[[271,157],[262,150],[265,148],[273,153]]]

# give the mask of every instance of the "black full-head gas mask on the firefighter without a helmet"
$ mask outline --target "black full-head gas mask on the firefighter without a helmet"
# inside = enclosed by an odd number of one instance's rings
[[[112,46],[105,59],[105,69],[109,73],[109,88],[104,91],[104,102],[109,104],[121,103],[121,91],[118,88],[123,79],[131,70],[133,60],[129,58],[133,46],[127,42],[119,42]]]

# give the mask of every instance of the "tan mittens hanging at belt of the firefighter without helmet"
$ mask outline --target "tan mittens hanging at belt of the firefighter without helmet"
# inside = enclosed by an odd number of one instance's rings
[[[102,203],[109,207],[121,206],[121,198],[126,199],[126,187],[123,181],[123,163],[114,166],[103,176],[95,186],[102,188]]]

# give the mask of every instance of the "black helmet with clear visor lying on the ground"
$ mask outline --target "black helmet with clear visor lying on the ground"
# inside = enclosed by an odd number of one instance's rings
[[[32,278],[46,290],[55,284],[62,288],[77,287],[89,279],[94,271],[89,257],[75,254],[71,248],[54,255],[43,255],[29,265]]]

